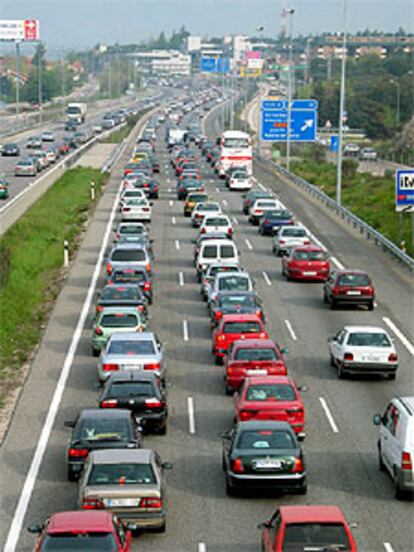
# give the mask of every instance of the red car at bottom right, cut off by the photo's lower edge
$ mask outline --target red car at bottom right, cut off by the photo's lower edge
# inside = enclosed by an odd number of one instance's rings
[[[337,506],[280,506],[258,527],[262,529],[263,552],[357,552],[349,525]]]

